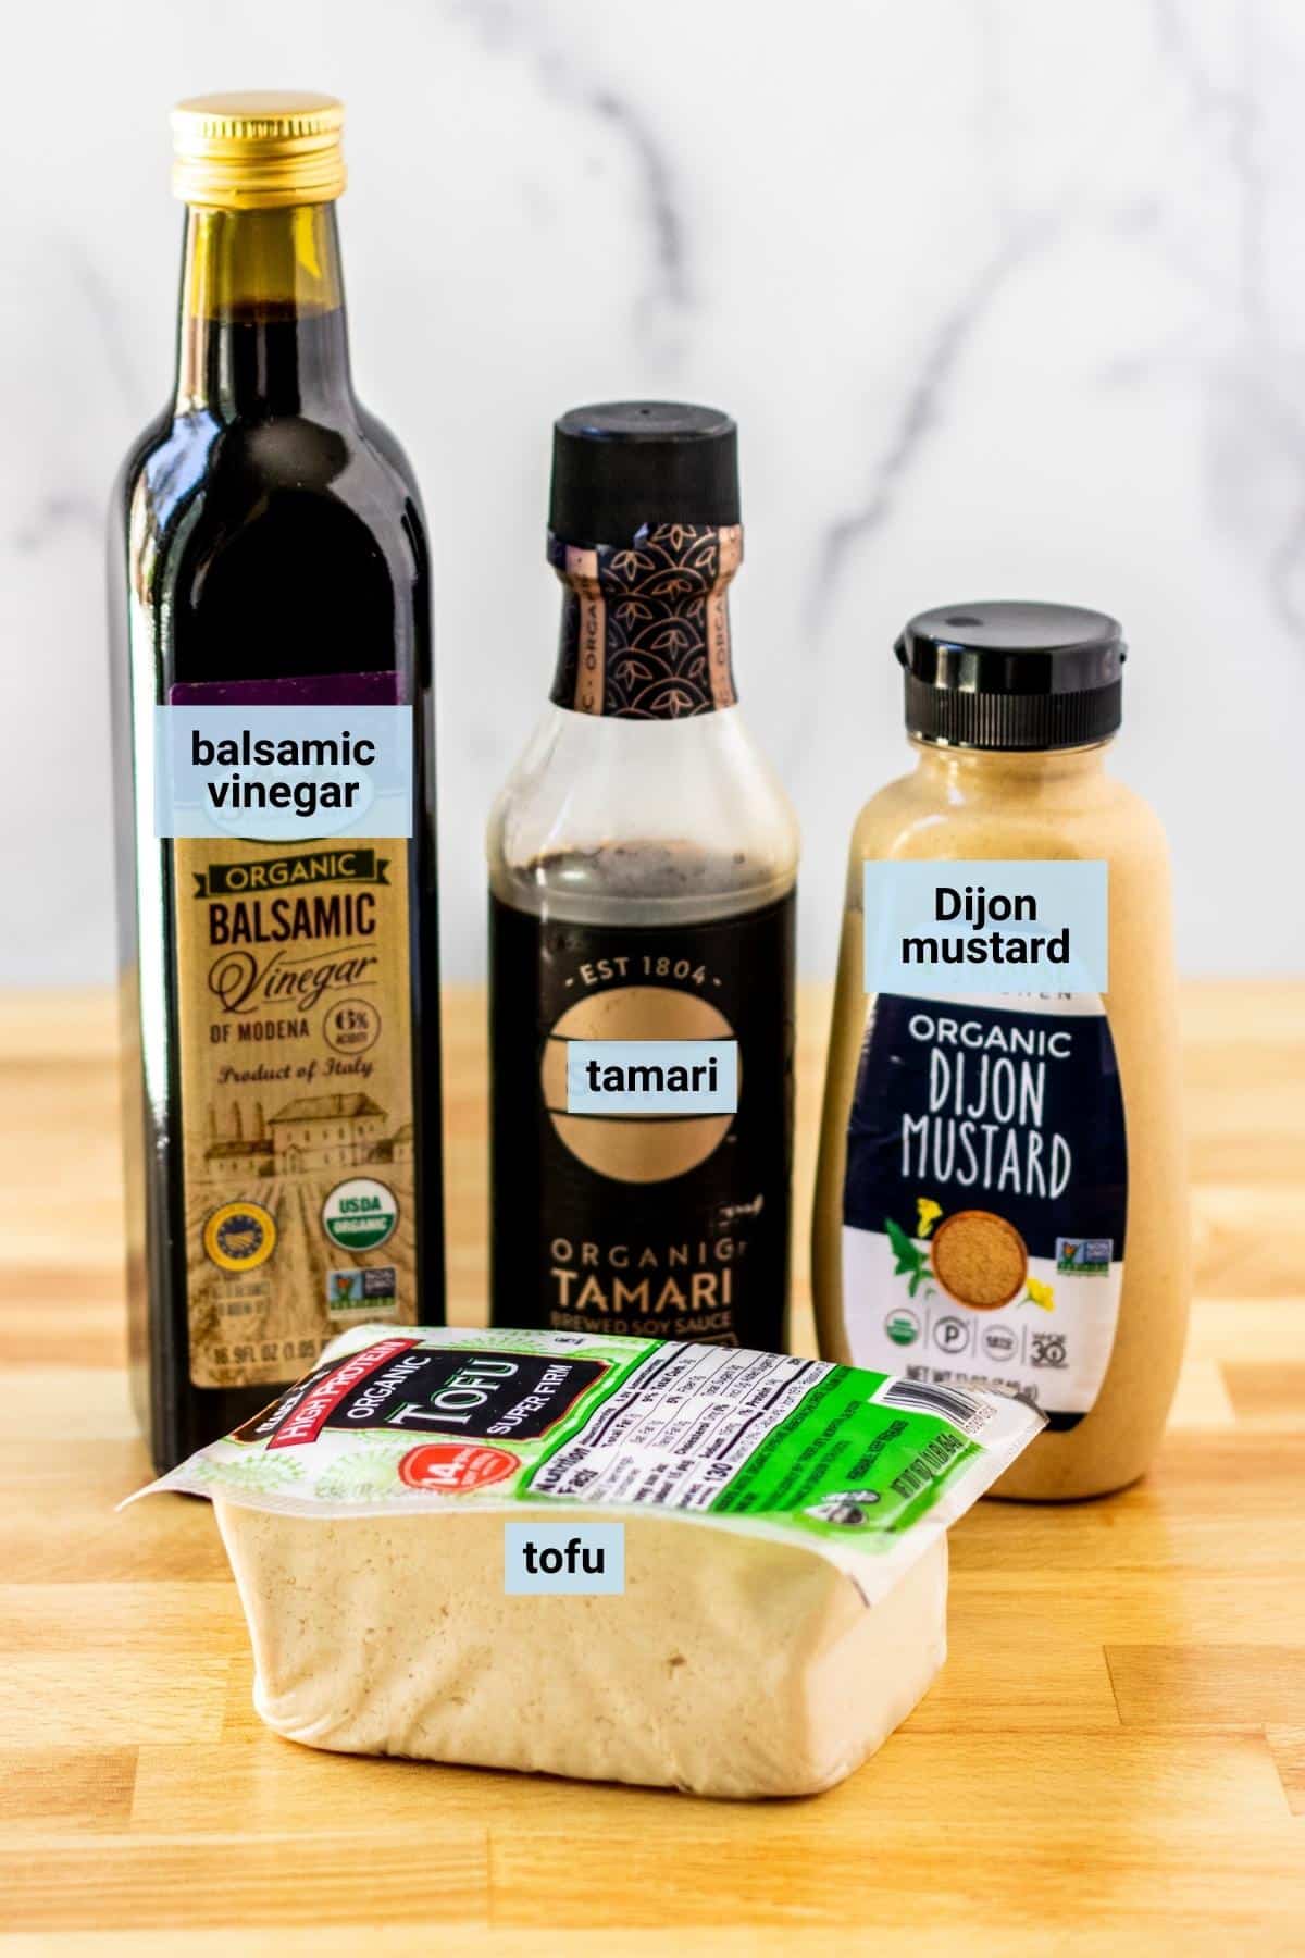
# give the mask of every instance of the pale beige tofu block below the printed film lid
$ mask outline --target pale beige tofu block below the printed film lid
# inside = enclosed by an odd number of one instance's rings
[[[258,1713],[309,1747],[806,1795],[886,1741],[947,1651],[945,1535],[867,1606],[798,1543],[653,1514],[626,1519],[624,1596],[517,1598],[501,1514],[215,1510]]]

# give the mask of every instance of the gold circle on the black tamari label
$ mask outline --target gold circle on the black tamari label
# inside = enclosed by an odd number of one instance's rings
[[[710,1001],[665,985],[612,987],[577,1001],[544,1042],[540,1087],[560,1142],[587,1169],[616,1183],[683,1177],[730,1134],[732,1114],[567,1114],[565,1057],[571,1040],[734,1040],[734,1028]]]

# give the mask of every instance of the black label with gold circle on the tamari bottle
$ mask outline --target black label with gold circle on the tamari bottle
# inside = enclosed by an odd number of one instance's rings
[[[783,1347],[792,920],[792,897],[687,926],[542,922],[491,899],[497,1324]],[[579,1102],[575,1049],[608,1044],[730,1044],[738,1108]]]

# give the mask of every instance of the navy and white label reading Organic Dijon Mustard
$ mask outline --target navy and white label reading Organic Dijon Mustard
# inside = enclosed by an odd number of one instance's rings
[[[1098,995],[875,995],[843,1183],[857,1365],[1074,1427],[1115,1343],[1127,1185]]]

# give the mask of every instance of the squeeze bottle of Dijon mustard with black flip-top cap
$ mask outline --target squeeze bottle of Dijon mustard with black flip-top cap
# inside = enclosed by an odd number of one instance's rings
[[[898,640],[916,768],[851,838],[814,1220],[822,1351],[1049,1425],[998,1484],[1094,1496],[1148,1467],[1188,1316],[1170,871],[1107,771],[1125,646],[1068,605],[941,607]],[[1109,989],[863,985],[863,867],[1107,865]],[[967,942],[968,956],[968,942]],[[968,967],[974,969],[972,965]],[[933,1388],[929,1386],[933,1384]]]

